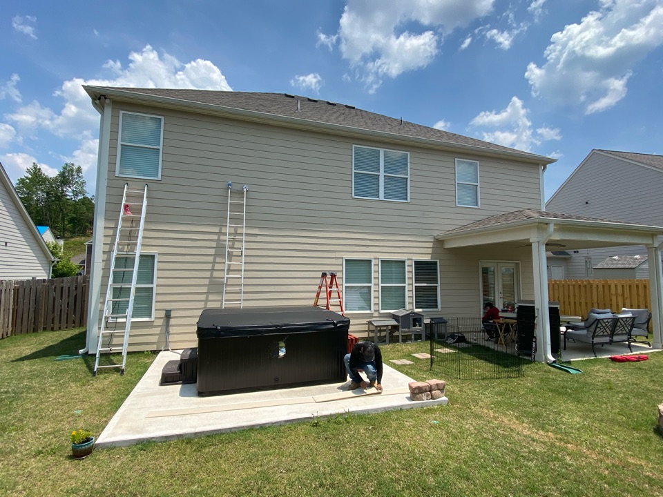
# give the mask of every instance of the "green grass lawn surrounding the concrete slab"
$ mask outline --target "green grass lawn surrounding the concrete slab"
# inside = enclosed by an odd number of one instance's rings
[[[55,360],[83,346],[80,329],[0,340],[0,494],[663,495],[663,353],[579,362],[579,375],[532,363],[524,378],[439,378],[446,406],[311,418],[73,460],[69,433],[98,435],[155,357],[129,354],[124,376],[107,369],[96,378],[92,356]],[[382,349],[385,360],[408,358],[421,344]],[[428,364],[396,368],[427,380]]]

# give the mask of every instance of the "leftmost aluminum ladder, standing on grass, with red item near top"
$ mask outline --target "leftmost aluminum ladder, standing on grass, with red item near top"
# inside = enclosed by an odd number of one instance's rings
[[[124,184],[117,233],[115,233],[115,242],[111,251],[111,273],[108,276],[104,318],[97,338],[97,358],[93,376],[97,376],[97,369],[111,367],[121,367],[120,374],[124,374],[146,207],[147,185],[143,190],[130,190],[128,184]],[[122,364],[99,366],[99,356],[102,353],[117,352],[120,349],[119,345],[114,346],[115,335],[119,333],[123,335]]]

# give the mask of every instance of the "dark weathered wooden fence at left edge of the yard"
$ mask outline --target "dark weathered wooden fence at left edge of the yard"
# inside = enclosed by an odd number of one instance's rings
[[[0,338],[86,325],[89,276],[0,280]]]

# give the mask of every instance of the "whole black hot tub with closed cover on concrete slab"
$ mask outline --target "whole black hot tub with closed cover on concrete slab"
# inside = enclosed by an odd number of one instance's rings
[[[205,309],[196,330],[198,393],[343,382],[349,325],[314,306]]]

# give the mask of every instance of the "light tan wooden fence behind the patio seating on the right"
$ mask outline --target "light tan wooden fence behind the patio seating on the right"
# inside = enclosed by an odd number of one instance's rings
[[[559,302],[559,313],[585,318],[588,311],[649,309],[649,280],[548,280],[548,298]]]

